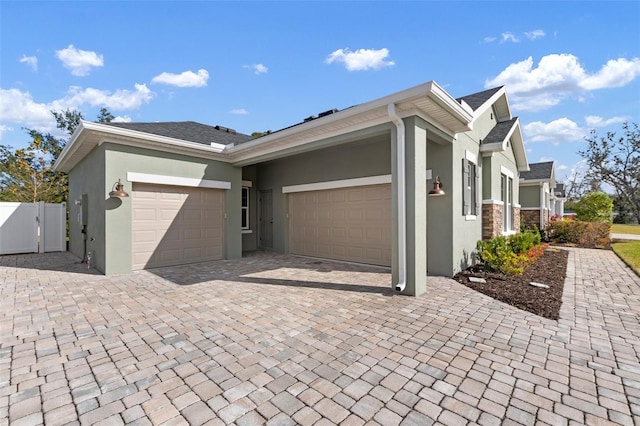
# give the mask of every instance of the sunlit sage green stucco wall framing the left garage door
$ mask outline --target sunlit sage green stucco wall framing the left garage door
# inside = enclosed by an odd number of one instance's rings
[[[105,143],[104,173],[106,274],[131,270],[131,198],[108,199],[112,185],[121,179],[125,191],[131,193],[132,183],[126,181],[127,172],[166,176],[210,179],[231,182],[225,191],[224,256],[234,259],[242,256],[240,197],[242,170],[227,163],[202,158],[169,154],[147,149]]]

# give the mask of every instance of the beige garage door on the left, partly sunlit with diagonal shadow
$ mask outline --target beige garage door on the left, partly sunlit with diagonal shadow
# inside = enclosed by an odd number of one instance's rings
[[[132,269],[223,257],[224,191],[134,183]]]

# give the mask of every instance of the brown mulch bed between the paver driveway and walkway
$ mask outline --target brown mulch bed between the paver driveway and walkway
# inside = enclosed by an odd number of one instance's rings
[[[521,276],[487,272],[482,265],[476,265],[459,272],[453,279],[516,308],[557,320],[562,305],[568,257],[566,250],[550,248],[535,263],[527,266]],[[470,282],[469,277],[484,278],[487,282]],[[546,284],[549,288],[534,287],[530,282]]]

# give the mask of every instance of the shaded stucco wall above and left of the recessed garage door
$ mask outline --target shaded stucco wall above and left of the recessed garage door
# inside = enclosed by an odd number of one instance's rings
[[[390,174],[389,131],[345,145],[259,164],[257,169],[258,191],[273,191],[273,249],[287,253],[288,205],[282,187]]]

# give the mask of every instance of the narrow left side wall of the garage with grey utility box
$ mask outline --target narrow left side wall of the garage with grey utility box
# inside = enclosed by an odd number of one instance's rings
[[[98,146],[69,172],[69,250],[84,258],[81,209],[85,209],[87,251],[92,252],[91,264],[100,272],[105,271],[105,198],[111,191],[104,192],[104,152],[104,146]],[[76,204],[76,201],[82,202],[83,194],[86,194],[86,205]]]

